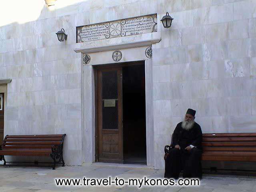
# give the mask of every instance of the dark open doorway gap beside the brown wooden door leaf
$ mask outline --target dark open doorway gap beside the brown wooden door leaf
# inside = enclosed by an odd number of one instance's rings
[[[122,68],[124,163],[146,164],[145,65]]]

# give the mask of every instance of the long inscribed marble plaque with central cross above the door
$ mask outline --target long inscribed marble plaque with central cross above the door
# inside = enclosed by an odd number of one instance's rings
[[[157,31],[156,14],[76,27],[76,42],[87,42]]]

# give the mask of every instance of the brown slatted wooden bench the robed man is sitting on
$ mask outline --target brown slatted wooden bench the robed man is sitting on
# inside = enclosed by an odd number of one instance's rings
[[[169,148],[165,146],[165,153],[169,152]],[[202,150],[202,160],[255,162],[256,133],[203,134]]]

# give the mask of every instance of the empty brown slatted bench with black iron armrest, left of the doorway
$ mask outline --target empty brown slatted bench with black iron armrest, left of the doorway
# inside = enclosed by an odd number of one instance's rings
[[[0,160],[6,160],[4,156],[50,156],[55,169],[56,164],[62,164],[63,160],[63,135],[6,135],[0,146]]]

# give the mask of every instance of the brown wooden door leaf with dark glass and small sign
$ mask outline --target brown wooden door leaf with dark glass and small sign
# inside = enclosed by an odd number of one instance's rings
[[[122,68],[98,70],[98,161],[123,162]]]

